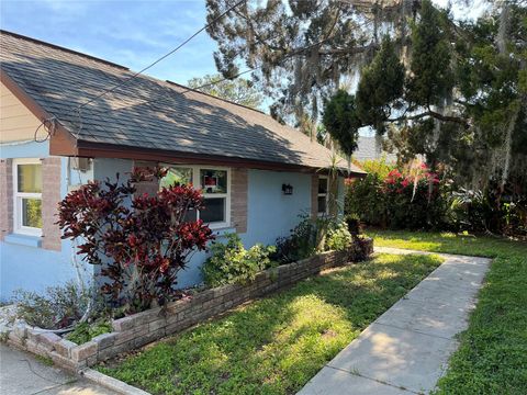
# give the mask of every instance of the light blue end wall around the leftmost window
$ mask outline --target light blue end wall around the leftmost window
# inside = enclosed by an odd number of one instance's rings
[[[45,158],[48,157],[48,151],[47,142],[0,145],[2,159]],[[69,176],[68,159],[61,158],[61,196],[67,193]],[[10,241],[0,241],[1,301],[11,298],[13,291],[18,289],[42,293],[47,286],[61,284],[68,280],[77,280],[79,276],[85,280],[91,278],[91,267],[77,262],[69,240],[63,240],[61,251],[53,251],[23,245],[16,237],[8,237],[8,239]],[[24,238],[21,240],[24,241]],[[31,237],[25,240],[35,241]]]

